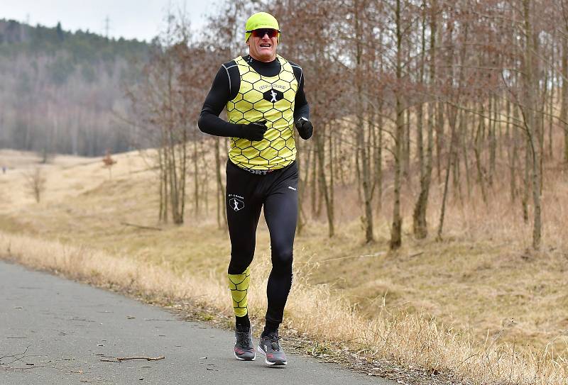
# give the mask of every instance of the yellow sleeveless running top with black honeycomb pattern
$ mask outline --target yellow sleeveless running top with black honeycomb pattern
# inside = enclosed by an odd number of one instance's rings
[[[280,73],[273,77],[258,74],[239,56],[235,59],[241,74],[241,87],[235,99],[227,102],[231,123],[246,124],[266,120],[263,140],[231,138],[229,158],[246,169],[280,169],[296,159],[294,141],[294,101],[297,80],[290,63],[277,56]]]

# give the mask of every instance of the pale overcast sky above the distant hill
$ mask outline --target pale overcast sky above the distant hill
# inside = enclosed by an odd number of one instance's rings
[[[109,19],[109,37],[151,40],[165,22],[168,8],[177,13],[184,9],[192,28],[204,23],[206,13],[214,13],[222,0],[0,0],[0,18],[15,19],[32,26],[54,27],[58,21],[64,30],[89,30],[105,34]]]

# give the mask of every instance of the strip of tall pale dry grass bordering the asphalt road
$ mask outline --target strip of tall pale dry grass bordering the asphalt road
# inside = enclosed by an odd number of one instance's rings
[[[229,315],[226,285],[222,274],[203,279],[193,272],[176,274],[173,269],[140,264],[129,257],[115,257],[85,247],[0,233],[0,250],[12,260],[40,269],[61,272],[68,277],[87,278],[95,284],[119,286],[140,291],[145,296],[168,296],[214,306]],[[268,264],[257,264],[252,292],[263,291]],[[452,372],[472,384],[564,384],[566,373],[557,362],[543,355],[516,352],[514,347],[484,345],[467,333],[440,327],[427,316],[404,312],[379,313],[367,320],[341,297],[333,296],[327,286],[311,286],[297,272],[288,304],[286,325],[305,330],[308,335],[332,342],[343,342],[352,349],[365,350],[373,358],[394,359],[404,366],[419,366],[430,371]],[[263,298],[253,296],[251,308],[266,306]],[[347,342],[346,342],[347,341]]]

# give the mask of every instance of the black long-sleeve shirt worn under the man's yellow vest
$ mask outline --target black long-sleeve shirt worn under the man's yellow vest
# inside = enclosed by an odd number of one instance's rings
[[[280,62],[278,59],[272,62],[260,62],[246,55],[244,60],[253,69],[265,77],[273,77],[280,73]],[[310,106],[307,104],[304,94],[304,76],[299,65],[290,62],[294,69],[294,76],[297,80],[297,91],[294,101],[294,121],[299,118],[310,118]],[[241,74],[234,60],[224,63],[217,71],[209,94],[205,98],[201,109],[200,119],[197,123],[200,130],[204,133],[217,136],[239,137],[239,125],[229,123],[219,118],[219,114],[225,108],[226,103],[236,98],[241,87]]]

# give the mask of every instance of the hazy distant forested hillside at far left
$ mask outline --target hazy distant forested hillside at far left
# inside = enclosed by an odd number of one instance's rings
[[[0,147],[85,156],[128,150],[126,89],[149,48],[0,19]]]

